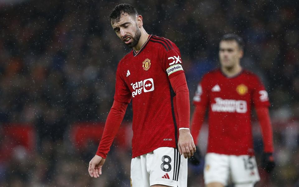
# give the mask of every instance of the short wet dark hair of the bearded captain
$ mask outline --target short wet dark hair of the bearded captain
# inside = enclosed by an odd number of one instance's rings
[[[111,11],[109,15],[110,22],[112,22],[112,24],[114,24],[115,22],[116,23],[119,22],[121,15],[124,15],[125,13],[130,16],[131,15],[138,16],[137,10],[132,5],[127,3],[122,3],[116,5]]]

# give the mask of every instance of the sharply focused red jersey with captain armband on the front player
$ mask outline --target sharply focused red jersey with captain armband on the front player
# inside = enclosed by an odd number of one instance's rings
[[[114,99],[133,104],[132,157],[159,147],[176,147],[176,102],[169,79],[183,73],[178,47],[150,35],[136,53],[118,64]]]

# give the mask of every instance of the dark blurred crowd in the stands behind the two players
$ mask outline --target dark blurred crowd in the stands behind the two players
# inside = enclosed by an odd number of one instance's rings
[[[135,6],[149,34],[179,47],[190,100],[218,67],[221,36],[244,39],[242,66],[269,93],[277,163],[271,175],[260,171],[257,186],[299,186],[299,6],[287,0],[0,1],[0,186],[130,186],[131,107],[127,143],[113,145],[100,178],[87,169],[101,133],[83,134],[80,144],[74,136],[82,131],[73,131],[102,127],[112,106],[117,63],[131,50],[108,20],[122,2]],[[257,122],[253,129],[259,164]],[[206,137],[204,126],[203,153]],[[203,186],[202,170],[189,167],[188,186]]]

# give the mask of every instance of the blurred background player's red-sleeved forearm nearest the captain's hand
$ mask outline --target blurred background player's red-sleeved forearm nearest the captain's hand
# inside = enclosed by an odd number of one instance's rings
[[[206,112],[205,107],[195,106],[194,113],[192,116],[192,123],[191,123],[191,135],[194,139],[195,145],[197,145],[197,137],[202,127],[202,123],[204,121],[205,112]]]

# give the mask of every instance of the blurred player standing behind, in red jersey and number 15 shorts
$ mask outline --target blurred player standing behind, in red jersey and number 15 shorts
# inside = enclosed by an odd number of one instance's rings
[[[204,180],[208,187],[223,187],[229,177],[235,187],[253,187],[260,180],[254,157],[251,109],[259,118],[263,143],[263,167],[274,167],[273,134],[269,118],[268,93],[259,78],[240,65],[243,40],[224,35],[219,44],[220,69],[205,74],[193,98],[195,111],[191,134],[197,136],[209,108],[209,137],[205,156]]]

